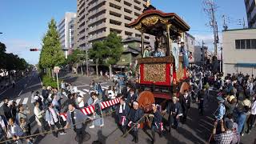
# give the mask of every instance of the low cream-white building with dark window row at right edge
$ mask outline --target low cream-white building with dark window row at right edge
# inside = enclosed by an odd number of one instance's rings
[[[256,74],[256,29],[223,31],[224,74]]]

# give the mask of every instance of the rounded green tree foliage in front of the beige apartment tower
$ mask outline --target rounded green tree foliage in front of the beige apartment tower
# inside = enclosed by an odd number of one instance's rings
[[[98,58],[98,62],[106,66],[114,65],[122,54],[122,37],[116,33],[110,33],[103,41],[94,42],[89,50],[89,58]]]

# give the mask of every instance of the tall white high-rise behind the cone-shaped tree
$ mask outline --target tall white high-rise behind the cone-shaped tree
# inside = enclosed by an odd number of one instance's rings
[[[66,12],[64,18],[58,23],[58,34],[66,57],[67,50],[74,48],[74,19],[76,16],[76,13]]]

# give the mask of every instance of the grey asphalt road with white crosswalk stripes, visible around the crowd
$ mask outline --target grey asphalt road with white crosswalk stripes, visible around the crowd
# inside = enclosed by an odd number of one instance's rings
[[[62,79],[65,79],[67,82],[71,82],[78,86],[78,90],[85,96],[85,102],[88,99],[88,90],[90,89],[89,83],[90,78],[86,77],[76,77],[70,75],[61,75]],[[112,82],[105,82],[104,80],[98,80],[98,82],[102,83],[102,87],[106,88],[108,86],[112,86]],[[0,95],[0,100],[2,98],[10,98],[10,100],[14,100],[18,103],[23,103],[29,107],[31,112],[34,110],[34,106],[31,104],[31,90],[39,91],[41,93],[42,86],[39,81],[38,74],[33,72],[29,74],[26,78],[22,78],[15,89],[10,88],[6,90],[5,93]],[[64,97],[63,102],[65,102],[66,97]],[[205,115],[199,116],[198,114],[198,105],[193,103],[191,109],[188,114],[188,119],[186,124],[180,124],[178,130],[172,130],[171,133],[164,132],[163,137],[159,138],[158,134],[156,134],[157,142],[156,143],[166,143],[166,144],[192,144],[192,143],[207,143],[210,138],[210,134],[213,127],[213,113],[216,110],[217,102],[214,98],[214,93],[210,97],[209,102],[206,105]],[[2,108],[2,104],[0,103],[0,108]],[[2,112],[2,110],[1,110]],[[34,122],[34,114],[30,114],[30,122],[32,126],[32,133],[38,133],[38,127]],[[107,116],[104,118],[105,126],[102,128],[95,127],[94,129],[89,129],[90,122],[87,124],[86,132],[88,132],[87,136],[90,136],[87,141],[84,143],[91,143],[96,140],[101,141],[102,143],[122,143],[122,144],[130,144],[132,137],[129,134],[126,138],[120,138],[122,135],[121,130],[118,129],[118,126],[114,120],[114,116]],[[66,130],[65,135],[59,135],[58,139],[55,139],[52,134],[47,134],[45,136],[38,136],[35,138],[34,143],[40,144],[49,144],[49,143],[60,143],[60,144],[73,144],[78,143],[74,140],[75,133],[73,130]],[[252,130],[250,134],[246,134],[241,143],[243,144],[253,144],[254,136],[256,134],[256,130]],[[150,142],[150,130],[139,130],[139,143],[148,144]]]

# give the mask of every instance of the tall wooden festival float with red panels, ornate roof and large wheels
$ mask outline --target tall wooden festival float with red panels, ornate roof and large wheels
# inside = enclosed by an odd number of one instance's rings
[[[166,53],[164,57],[138,58],[139,106],[144,108],[145,112],[151,110],[152,103],[165,107],[166,101],[189,89],[187,69],[183,66],[179,47],[174,45],[178,43],[177,41],[175,44],[177,38],[184,39],[184,33],[190,30],[190,26],[177,14],[163,13],[149,3],[129,26],[141,32],[142,57],[145,51],[145,34],[155,37],[154,50],[162,47]]]

